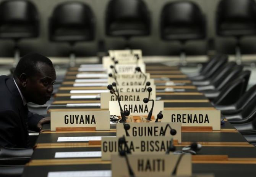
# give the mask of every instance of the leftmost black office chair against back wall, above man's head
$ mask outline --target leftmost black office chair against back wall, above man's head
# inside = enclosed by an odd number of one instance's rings
[[[19,40],[39,35],[36,6],[27,0],[5,0],[0,3],[0,38],[15,41],[15,63],[19,61]]]

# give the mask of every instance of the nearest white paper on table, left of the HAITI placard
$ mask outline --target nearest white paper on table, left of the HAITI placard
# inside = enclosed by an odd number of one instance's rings
[[[111,177],[111,170],[56,171],[48,172],[47,177]]]

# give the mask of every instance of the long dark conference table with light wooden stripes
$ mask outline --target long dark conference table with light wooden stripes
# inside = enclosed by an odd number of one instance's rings
[[[55,94],[55,99],[48,108],[52,111],[86,111],[101,110],[95,107],[67,107],[67,104],[100,103],[99,99],[71,99],[71,90],[76,89],[107,89],[106,86],[75,87],[79,66],[68,69],[65,79]],[[169,67],[163,64],[146,64],[146,72],[155,79],[157,100],[164,101],[164,110],[215,110],[211,102],[192,85],[189,78],[180,71],[179,67]],[[97,72],[92,72],[97,73]],[[173,86],[165,83],[172,81]],[[182,84],[181,84],[182,83]],[[174,91],[168,91],[172,88]],[[94,94],[95,95],[95,94]],[[202,144],[197,155],[192,156],[193,174],[214,174],[216,177],[253,177],[256,175],[256,149],[230,124],[225,121],[221,129],[181,129],[182,143],[175,144],[181,149],[192,142]],[[44,125],[39,134],[31,161],[26,164],[23,177],[53,177],[49,172],[84,172],[109,171],[111,161],[102,161],[100,156],[89,158],[55,158],[59,152],[89,152],[100,151],[100,144],[90,141],[60,142],[59,137],[104,137],[116,136],[116,124],[110,124],[110,131],[50,131],[50,125]],[[120,165],[120,170],[122,170]],[[59,176],[62,176],[61,173]],[[62,176],[62,177],[65,177]]]

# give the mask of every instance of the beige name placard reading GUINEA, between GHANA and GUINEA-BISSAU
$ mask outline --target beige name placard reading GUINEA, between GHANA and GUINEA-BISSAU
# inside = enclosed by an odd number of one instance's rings
[[[178,140],[178,143],[181,143],[181,123],[180,122],[173,122],[173,123],[166,123],[166,122],[157,122],[155,123],[127,123],[130,125],[130,129],[128,133],[132,137],[159,137],[159,136],[166,136],[166,137],[173,137],[173,139]],[[170,127],[177,131],[176,135],[172,136],[170,134]],[[117,137],[126,136],[125,129],[123,128],[123,124],[117,123]]]

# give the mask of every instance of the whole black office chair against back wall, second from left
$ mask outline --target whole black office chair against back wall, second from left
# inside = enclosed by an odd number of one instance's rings
[[[70,65],[74,66],[75,43],[94,39],[91,8],[82,2],[63,2],[56,6],[49,19],[49,39],[70,44]]]

